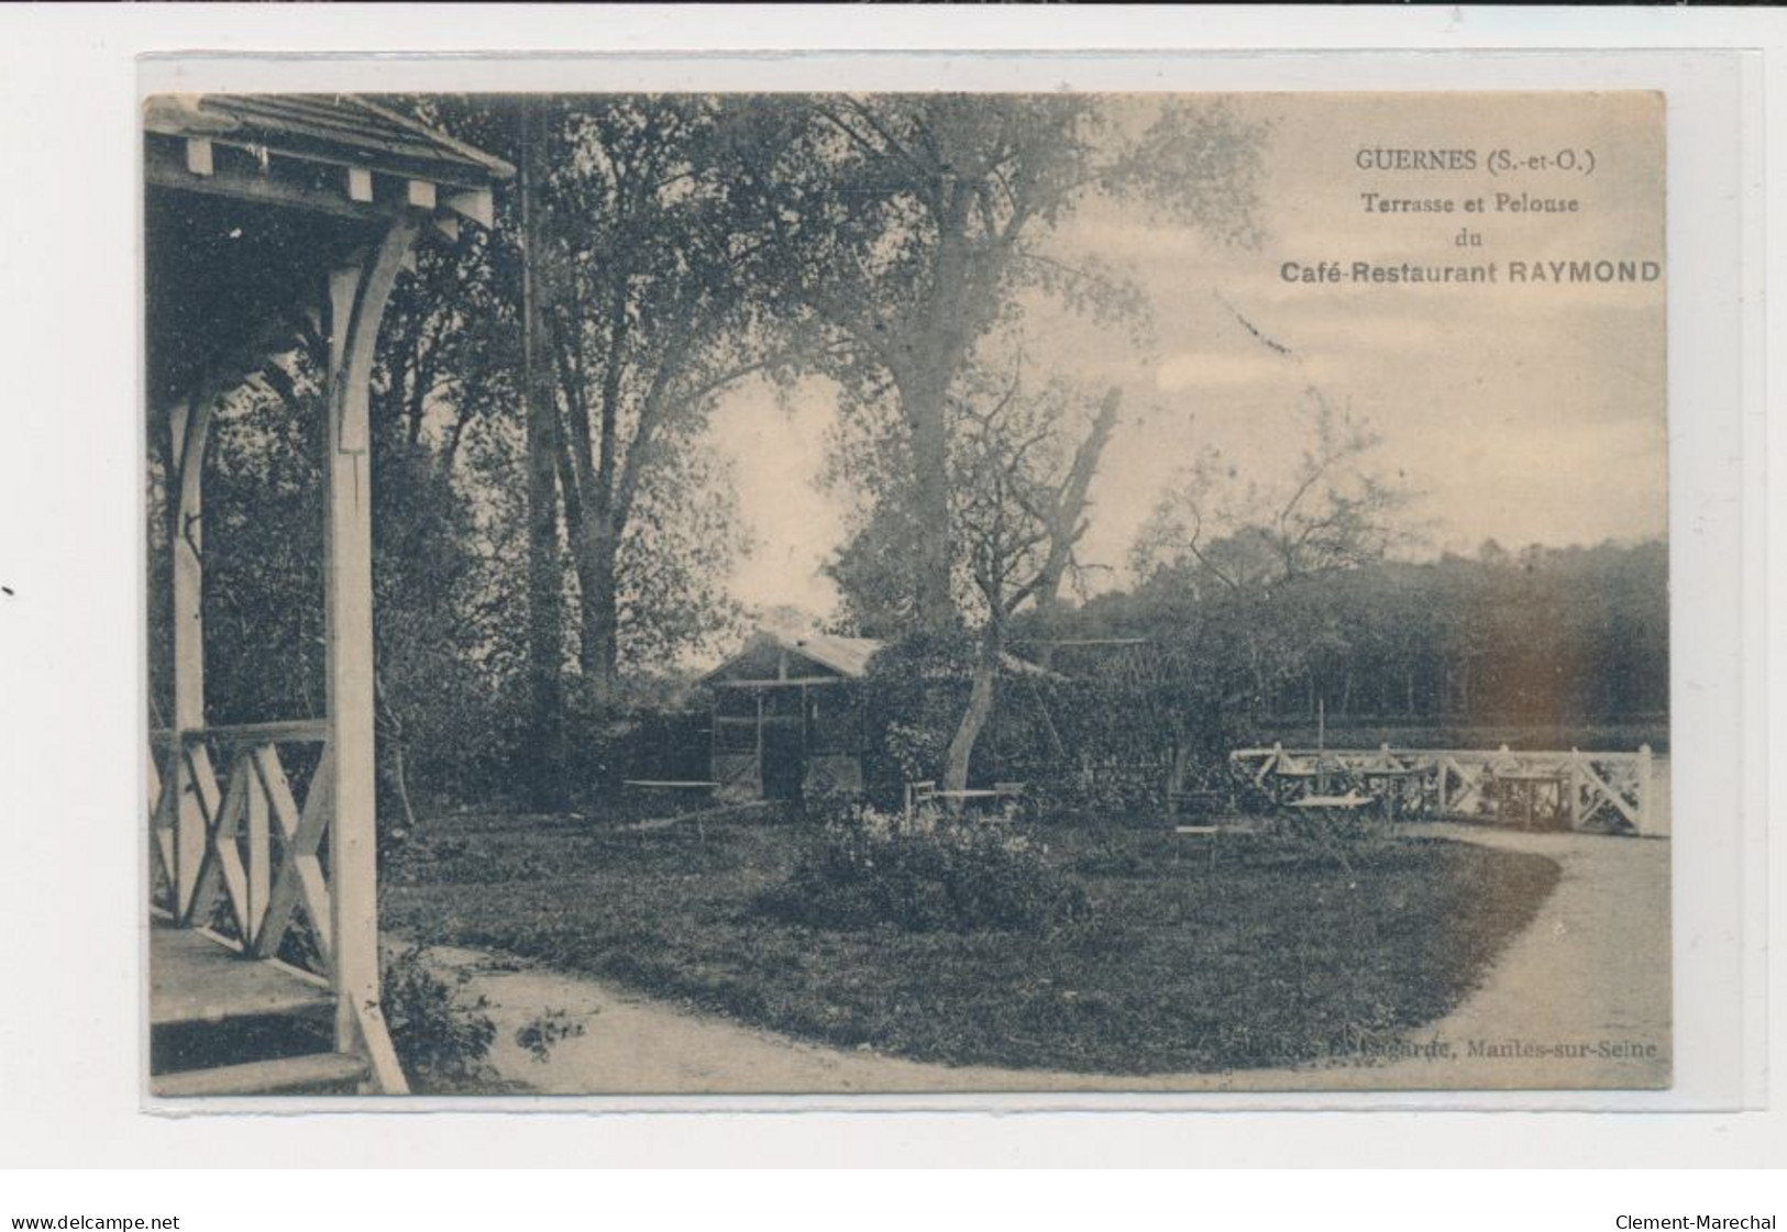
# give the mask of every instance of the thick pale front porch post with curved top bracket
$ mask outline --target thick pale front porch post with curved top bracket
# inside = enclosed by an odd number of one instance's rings
[[[323,579],[329,646],[329,862],[336,1048],[372,1064],[372,1089],[407,1087],[379,1009],[379,868],[372,661],[373,346],[391,284],[416,236],[395,223],[365,266],[329,275],[329,512]]]

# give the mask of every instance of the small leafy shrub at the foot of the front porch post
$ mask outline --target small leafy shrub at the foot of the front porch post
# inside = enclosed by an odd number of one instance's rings
[[[488,1084],[486,1062],[497,1025],[482,996],[466,1002],[427,964],[424,946],[384,955],[381,1002],[391,1045],[416,1091],[459,1091]]]

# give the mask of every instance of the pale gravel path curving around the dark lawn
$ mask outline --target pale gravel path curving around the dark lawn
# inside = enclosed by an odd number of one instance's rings
[[[491,1062],[541,1095],[1340,1091],[1669,1086],[1669,843],[1424,825],[1412,832],[1537,852],[1562,878],[1483,987],[1388,1057],[1301,1070],[1085,1075],[938,1066],[840,1052],[490,953],[436,961],[490,1000]],[[515,1043],[541,1011],[584,1034],[545,1062]]]

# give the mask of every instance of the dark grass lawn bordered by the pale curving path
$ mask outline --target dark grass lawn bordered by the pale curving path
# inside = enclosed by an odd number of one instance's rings
[[[747,814],[751,816],[751,814]],[[384,923],[597,975],[836,1046],[947,1064],[1212,1071],[1358,1057],[1456,1005],[1556,864],[1446,841],[1319,852],[1036,830],[1095,916],[1053,936],[818,930],[759,909],[802,828],[709,820],[429,821],[384,873]],[[597,1027],[599,1030],[599,1027]]]

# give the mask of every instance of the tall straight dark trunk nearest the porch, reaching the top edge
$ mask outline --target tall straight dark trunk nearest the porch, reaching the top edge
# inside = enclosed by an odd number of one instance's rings
[[[547,384],[540,279],[543,255],[540,227],[541,134],[540,109],[529,100],[522,109],[522,364],[525,379],[527,437],[527,687],[531,741],[525,755],[529,795],[536,809],[556,812],[565,795],[565,680],[561,671],[563,586],[558,554],[558,407]]]

